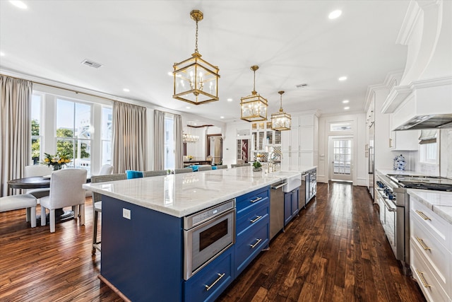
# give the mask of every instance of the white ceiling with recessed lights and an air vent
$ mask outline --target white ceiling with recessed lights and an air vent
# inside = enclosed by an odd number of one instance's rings
[[[405,67],[396,45],[409,1],[0,1],[0,71],[140,100],[224,122],[256,91],[277,112],[364,112],[368,86]],[[220,67],[220,101],[172,98],[174,62],[195,48]],[[328,13],[343,11],[335,20]],[[99,69],[81,64],[90,59]],[[338,81],[347,76],[346,81]],[[36,78],[35,78],[36,79]],[[307,83],[305,88],[297,85]],[[124,92],[128,88],[129,92]],[[227,99],[231,98],[232,101]],[[343,100],[350,100],[344,110]],[[187,109],[187,106],[189,109]]]

